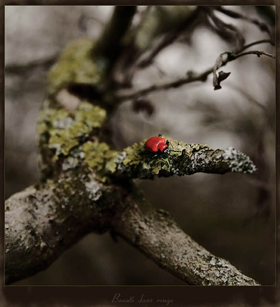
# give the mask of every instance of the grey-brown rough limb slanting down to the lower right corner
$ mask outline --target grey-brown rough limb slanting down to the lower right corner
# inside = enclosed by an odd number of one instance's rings
[[[259,286],[227,260],[218,258],[185,234],[164,210],[153,209],[143,196],[118,211],[114,231],[161,268],[200,286]]]

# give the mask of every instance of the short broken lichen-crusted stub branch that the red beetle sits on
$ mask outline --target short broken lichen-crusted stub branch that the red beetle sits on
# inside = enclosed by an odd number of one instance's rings
[[[229,171],[252,173],[256,167],[244,153],[229,147],[213,150],[208,145],[186,144],[169,139],[179,152],[151,159],[151,153],[144,149],[144,142],[133,144],[116,156],[116,176],[126,178],[153,179],[191,175],[197,172],[223,174]]]

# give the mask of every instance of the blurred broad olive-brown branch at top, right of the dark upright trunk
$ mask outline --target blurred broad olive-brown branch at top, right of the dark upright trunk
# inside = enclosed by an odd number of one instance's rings
[[[148,6],[138,25],[130,30],[130,40],[118,61],[115,71],[118,85],[131,87],[135,71],[151,64],[154,57],[182,32],[188,31],[191,34],[198,23],[201,23],[200,13],[203,13],[201,8],[189,6],[168,9],[156,6],[153,10]],[[153,42],[159,36],[162,39],[154,47]]]

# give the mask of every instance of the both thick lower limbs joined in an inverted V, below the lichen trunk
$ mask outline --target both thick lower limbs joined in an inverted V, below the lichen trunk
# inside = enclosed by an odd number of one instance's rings
[[[6,284],[47,268],[86,233],[110,229],[189,284],[258,285],[199,246],[132,186],[103,185],[83,174],[71,179],[68,173],[58,183],[14,194],[5,207]]]

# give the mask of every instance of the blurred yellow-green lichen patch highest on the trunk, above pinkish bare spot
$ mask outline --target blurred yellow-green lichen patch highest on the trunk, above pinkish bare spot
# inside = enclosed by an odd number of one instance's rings
[[[50,94],[57,93],[68,83],[95,85],[102,82],[105,67],[92,56],[94,44],[91,39],[76,39],[65,47],[48,75]]]

